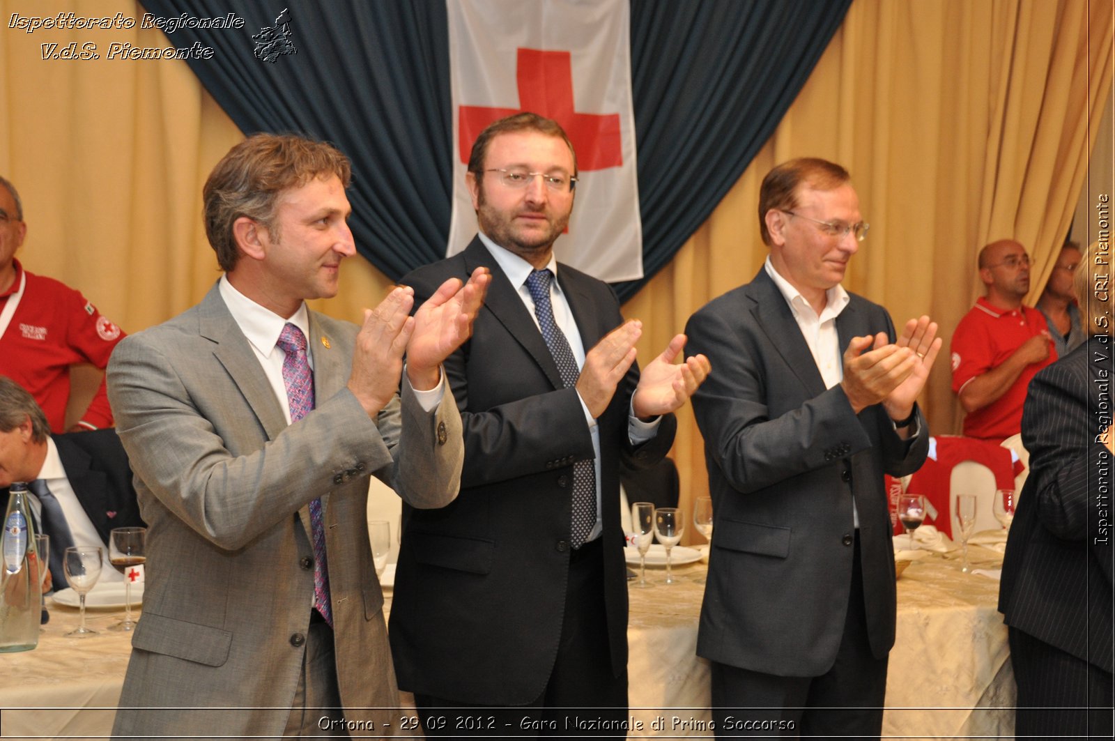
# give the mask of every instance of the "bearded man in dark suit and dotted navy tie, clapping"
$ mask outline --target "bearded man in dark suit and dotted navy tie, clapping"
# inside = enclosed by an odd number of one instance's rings
[[[479,235],[404,279],[420,298],[449,277],[492,272],[473,337],[446,360],[464,425],[460,495],[404,514],[389,633],[428,734],[569,734],[566,715],[586,716],[575,709],[627,718],[619,464],[662,458],[670,412],[708,362],[671,365],[679,335],[640,377],[640,324],[623,321],[605,283],[554,260],[575,177],[555,122],[492,124],[467,174]],[[522,710],[459,724],[443,710],[508,705]]]

